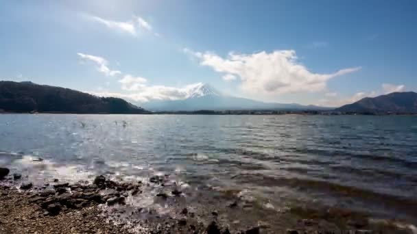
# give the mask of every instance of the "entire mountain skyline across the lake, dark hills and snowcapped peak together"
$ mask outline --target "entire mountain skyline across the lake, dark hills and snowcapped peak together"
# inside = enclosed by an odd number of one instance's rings
[[[0,112],[46,112],[75,114],[150,114],[156,112],[219,113],[222,110],[322,111],[342,114],[417,114],[416,92],[393,92],[333,109],[314,105],[264,103],[228,96],[215,88],[198,83],[189,86],[184,99],[150,101],[138,107],[123,99],[99,97],[68,88],[25,82],[0,81]],[[202,111],[203,112],[199,112]]]

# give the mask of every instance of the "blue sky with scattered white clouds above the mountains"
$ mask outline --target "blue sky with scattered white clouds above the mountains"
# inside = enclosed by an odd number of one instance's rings
[[[417,90],[417,1],[0,0],[0,80],[336,107]]]

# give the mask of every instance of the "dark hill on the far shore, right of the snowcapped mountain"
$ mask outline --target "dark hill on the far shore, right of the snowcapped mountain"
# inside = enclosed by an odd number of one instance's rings
[[[374,98],[368,97],[339,107],[335,111],[358,114],[417,114],[417,93],[392,92]]]

